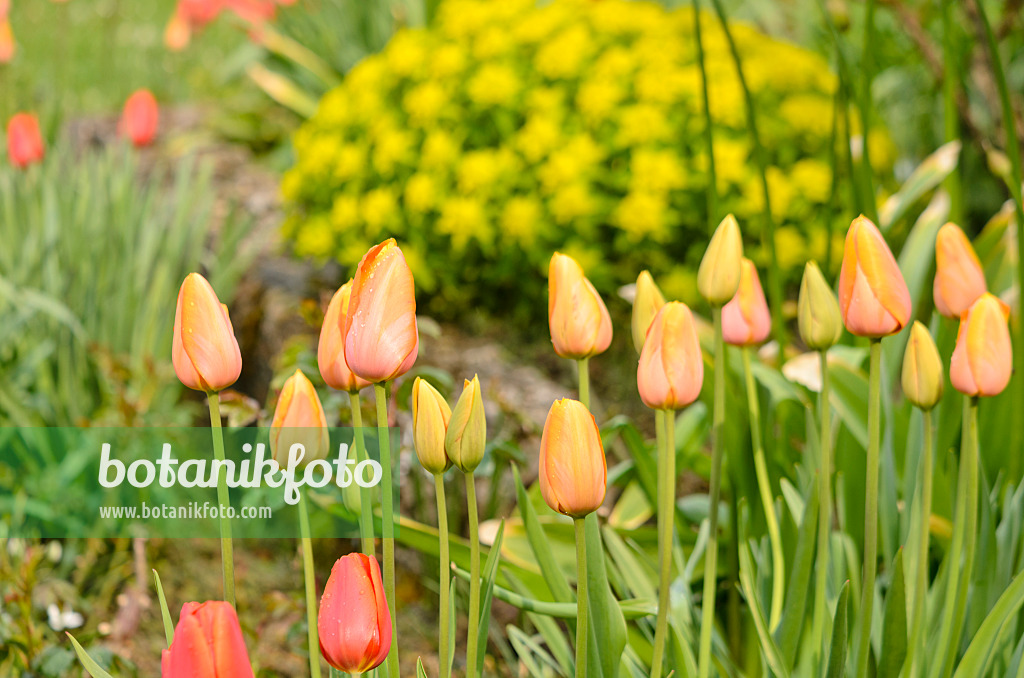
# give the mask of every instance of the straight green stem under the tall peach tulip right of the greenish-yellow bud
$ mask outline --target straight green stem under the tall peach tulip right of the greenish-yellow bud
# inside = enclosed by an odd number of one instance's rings
[[[866,678],[879,560],[879,434],[882,423],[882,339],[871,339],[867,391],[867,468],[864,482],[864,578],[860,589],[856,678]]]

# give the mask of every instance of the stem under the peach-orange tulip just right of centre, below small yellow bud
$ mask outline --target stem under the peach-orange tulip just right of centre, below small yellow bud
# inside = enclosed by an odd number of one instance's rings
[[[656,410],[657,421],[657,559],[660,581],[657,590],[657,622],[654,651],[650,663],[652,678],[662,676],[665,639],[669,632],[672,604],[672,532],[676,520],[676,416],[671,410]]]

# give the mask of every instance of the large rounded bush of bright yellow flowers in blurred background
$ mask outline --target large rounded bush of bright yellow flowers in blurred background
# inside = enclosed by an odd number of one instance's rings
[[[717,18],[701,15],[721,209],[757,235],[760,178]],[[771,168],[779,258],[826,246],[827,65],[744,25],[733,35]],[[296,134],[283,192],[300,256],[353,264],[401,238],[434,312],[507,306],[553,249],[599,286],[638,268],[692,297],[708,158],[693,13],[628,0],[445,0],[429,30],[367,57]],[[427,277],[426,268],[431,269]],[[674,286],[678,289],[672,289]],[[514,302],[513,302],[514,303]]]

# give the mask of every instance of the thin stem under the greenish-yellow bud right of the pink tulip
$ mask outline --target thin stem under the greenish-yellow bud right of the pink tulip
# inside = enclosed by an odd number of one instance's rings
[[[828,401],[828,351],[819,351],[821,361],[821,395],[818,419],[821,432],[818,438],[818,553],[814,570],[813,647],[820,651],[820,665],[825,664],[825,610],[827,608],[828,541],[831,536],[831,405]]]

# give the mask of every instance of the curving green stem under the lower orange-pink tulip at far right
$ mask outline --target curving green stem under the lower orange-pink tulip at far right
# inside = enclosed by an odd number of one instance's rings
[[[942,631],[936,647],[942,653],[932,676],[949,676],[959,650],[964,610],[974,571],[974,551],[978,532],[978,400],[964,396],[964,426],[961,436],[959,477],[956,480],[956,509],[953,541],[947,556],[946,604]],[[962,556],[963,554],[963,556]],[[963,560],[962,560],[963,557]],[[958,565],[958,566],[957,566]]]

